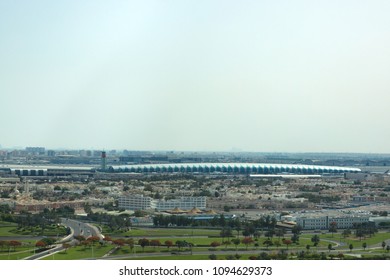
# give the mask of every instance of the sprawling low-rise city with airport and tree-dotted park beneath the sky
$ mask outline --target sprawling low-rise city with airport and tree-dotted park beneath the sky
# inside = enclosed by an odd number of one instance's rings
[[[23,236],[33,240],[24,259],[78,246],[88,254],[75,258],[142,258],[146,247],[176,259],[364,258],[370,248],[389,258],[388,166],[379,154],[3,149],[0,259],[17,256]]]

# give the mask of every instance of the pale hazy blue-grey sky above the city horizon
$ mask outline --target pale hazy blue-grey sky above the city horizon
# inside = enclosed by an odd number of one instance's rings
[[[390,1],[0,1],[0,145],[390,152]]]

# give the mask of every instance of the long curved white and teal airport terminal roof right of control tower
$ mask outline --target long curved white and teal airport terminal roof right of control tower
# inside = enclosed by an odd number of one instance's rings
[[[235,174],[324,174],[361,172],[359,168],[271,163],[177,163],[110,166],[111,172],[135,173],[235,173]]]

